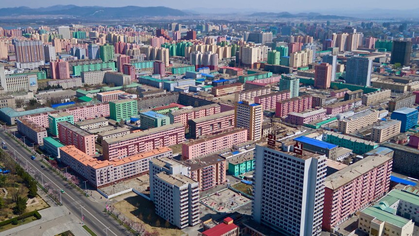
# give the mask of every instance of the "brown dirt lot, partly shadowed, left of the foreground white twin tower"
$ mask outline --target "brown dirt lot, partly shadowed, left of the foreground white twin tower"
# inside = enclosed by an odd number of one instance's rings
[[[154,204],[141,196],[128,197],[122,201],[115,203],[115,207],[128,218],[142,221],[145,230],[152,232],[156,230],[160,235],[164,236],[181,236],[185,234],[173,225],[168,225],[166,220],[157,216]]]

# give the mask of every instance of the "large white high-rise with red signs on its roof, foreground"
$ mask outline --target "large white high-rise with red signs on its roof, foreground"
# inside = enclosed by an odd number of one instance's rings
[[[319,236],[327,158],[273,140],[256,145],[252,217],[280,235]]]

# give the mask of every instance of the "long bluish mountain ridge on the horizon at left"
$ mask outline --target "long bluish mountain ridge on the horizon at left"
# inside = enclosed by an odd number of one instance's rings
[[[76,6],[55,5],[50,7],[29,8],[11,7],[0,8],[0,17],[18,17],[28,15],[46,16],[72,16],[84,18],[133,18],[143,16],[189,16],[190,13],[168,7],[100,7],[100,6]]]

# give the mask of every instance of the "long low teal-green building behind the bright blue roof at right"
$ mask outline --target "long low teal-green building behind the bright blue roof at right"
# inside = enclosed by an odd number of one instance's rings
[[[341,147],[349,148],[353,151],[353,153],[361,155],[379,146],[379,144],[369,140],[359,139],[349,135],[335,133],[332,131],[324,131],[323,141]]]

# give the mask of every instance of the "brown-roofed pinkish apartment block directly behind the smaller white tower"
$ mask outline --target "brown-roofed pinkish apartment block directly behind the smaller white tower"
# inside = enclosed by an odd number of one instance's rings
[[[218,155],[195,158],[183,164],[190,167],[189,177],[198,182],[200,191],[226,182],[226,159]]]

